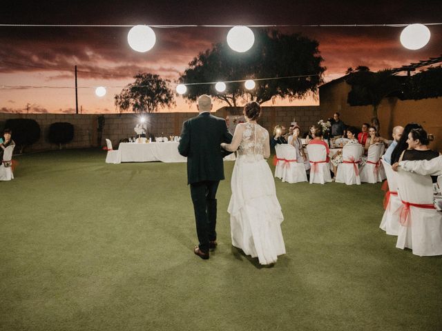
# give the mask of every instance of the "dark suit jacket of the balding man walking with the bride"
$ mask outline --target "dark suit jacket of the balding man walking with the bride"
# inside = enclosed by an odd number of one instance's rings
[[[221,143],[231,143],[232,135],[226,121],[203,112],[182,125],[178,152],[187,157],[187,182],[220,181],[224,179],[224,153]]]

